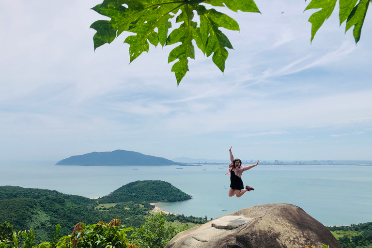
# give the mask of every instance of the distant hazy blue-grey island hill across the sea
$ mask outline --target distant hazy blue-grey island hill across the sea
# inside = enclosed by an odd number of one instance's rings
[[[62,159],[56,165],[82,165],[82,166],[121,166],[121,165],[184,165],[172,160],[144,155],[137,152],[116,150],[113,152],[93,152],[84,155],[71,156]]]

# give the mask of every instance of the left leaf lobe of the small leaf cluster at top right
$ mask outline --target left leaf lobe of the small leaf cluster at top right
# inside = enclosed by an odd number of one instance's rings
[[[309,22],[312,24],[310,41],[314,39],[315,33],[323,25],[324,21],[331,16],[335,5],[336,0],[312,0],[306,7],[305,11],[309,9],[321,9],[309,18]]]

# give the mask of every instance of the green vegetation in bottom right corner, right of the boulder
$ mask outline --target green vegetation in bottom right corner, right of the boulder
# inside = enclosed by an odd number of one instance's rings
[[[328,227],[342,248],[372,248],[372,222]]]

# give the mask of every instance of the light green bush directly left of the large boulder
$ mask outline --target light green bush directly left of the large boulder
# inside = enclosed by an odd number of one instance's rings
[[[129,241],[138,248],[163,248],[177,233],[187,229],[186,226],[182,229],[165,227],[165,221],[164,213],[147,216],[145,224],[132,233]]]

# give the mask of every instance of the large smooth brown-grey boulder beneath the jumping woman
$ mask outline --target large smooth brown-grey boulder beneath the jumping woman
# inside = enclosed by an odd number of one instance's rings
[[[248,207],[178,233],[165,248],[341,248],[322,223],[286,203]]]

